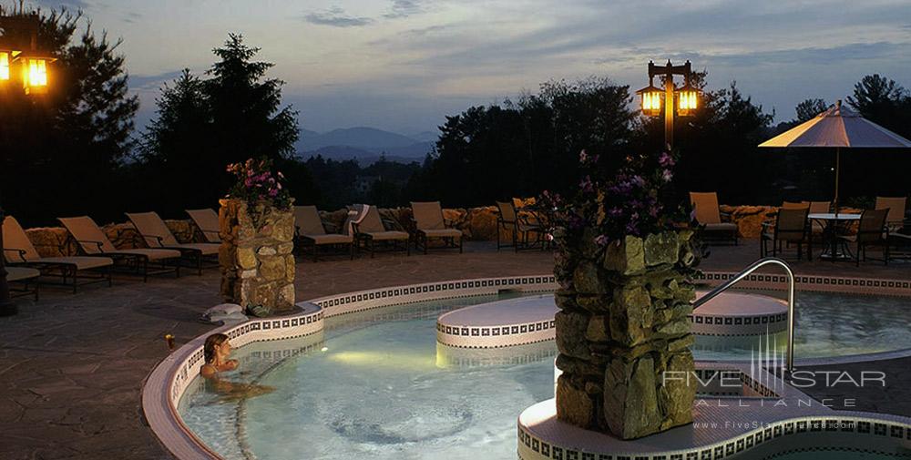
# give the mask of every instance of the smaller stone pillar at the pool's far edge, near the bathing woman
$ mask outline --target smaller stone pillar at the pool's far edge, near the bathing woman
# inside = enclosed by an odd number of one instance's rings
[[[242,307],[272,312],[294,308],[294,214],[246,201],[221,199],[221,295]]]

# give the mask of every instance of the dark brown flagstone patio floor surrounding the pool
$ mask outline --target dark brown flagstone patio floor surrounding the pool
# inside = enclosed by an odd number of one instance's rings
[[[755,241],[711,252],[702,269],[736,271],[759,255]],[[297,267],[297,298],[307,300],[396,284],[548,273],[552,258],[538,250],[497,252],[490,243],[472,242],[461,255],[377,254],[373,260],[302,261]],[[865,262],[855,268],[804,261],[794,268],[798,273],[911,277],[911,263]],[[182,344],[211,329],[197,318],[220,303],[218,286],[218,273],[210,270],[201,277],[148,283],[123,277],[113,288],[87,286],[76,295],[46,287],[40,302],[18,299],[19,314],[0,318],[0,458],[170,458],[143,422],[139,392],[168,353],[165,333]],[[904,370],[896,375],[905,381],[911,379],[907,364],[895,363]],[[908,415],[909,405],[906,392],[890,394],[872,409],[892,406],[888,412]]]

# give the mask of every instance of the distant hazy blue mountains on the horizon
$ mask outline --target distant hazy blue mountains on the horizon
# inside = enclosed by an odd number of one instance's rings
[[[357,159],[361,166],[366,166],[380,155],[400,163],[423,161],[433,150],[435,141],[436,134],[430,131],[404,136],[367,127],[333,129],[325,133],[301,129],[296,148],[300,158],[321,155],[335,160]]]

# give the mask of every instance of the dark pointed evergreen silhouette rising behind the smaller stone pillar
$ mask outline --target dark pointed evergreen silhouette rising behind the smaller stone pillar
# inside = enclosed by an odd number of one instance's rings
[[[149,203],[173,211],[217,206],[230,181],[225,167],[262,156],[275,160],[298,203],[318,199],[309,171],[292,157],[297,112],[281,107],[281,80],[265,78],[272,64],[252,61],[259,49],[230,34],[213,50],[220,60],[206,73],[210,77],[184,70],[162,88],[141,159],[149,173],[174,185],[152,189]]]

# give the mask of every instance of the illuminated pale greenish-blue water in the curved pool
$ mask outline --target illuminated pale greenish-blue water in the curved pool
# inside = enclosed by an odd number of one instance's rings
[[[518,414],[553,397],[556,345],[458,350],[435,335],[440,314],[497,299],[354,313],[314,336],[252,343],[234,352],[240,371],[227,378],[273,393],[228,401],[197,379],[179,414],[228,459],[516,458]],[[908,299],[802,292],[798,301],[798,358],[911,348]],[[697,359],[748,359],[754,346],[704,339]]]

